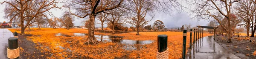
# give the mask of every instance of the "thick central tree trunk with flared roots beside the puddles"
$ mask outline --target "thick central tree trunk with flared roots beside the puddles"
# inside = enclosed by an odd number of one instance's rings
[[[86,39],[87,44],[98,44],[99,41],[96,40],[96,38],[94,37],[94,21],[95,21],[95,16],[96,15],[90,15],[89,18],[89,27],[88,27],[88,38]]]

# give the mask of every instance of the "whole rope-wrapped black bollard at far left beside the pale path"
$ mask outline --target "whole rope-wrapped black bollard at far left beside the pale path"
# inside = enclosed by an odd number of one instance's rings
[[[7,57],[9,59],[19,59],[20,49],[18,44],[18,38],[12,37],[8,39]],[[12,51],[15,50],[15,51]]]

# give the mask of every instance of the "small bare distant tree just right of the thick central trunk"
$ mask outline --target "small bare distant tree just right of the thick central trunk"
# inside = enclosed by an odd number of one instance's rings
[[[109,16],[107,13],[99,13],[98,14],[99,16],[97,16],[97,19],[100,21],[100,23],[98,24],[101,24],[101,28],[102,28],[102,31],[104,31],[103,29],[103,25],[104,24],[107,24],[107,17]]]

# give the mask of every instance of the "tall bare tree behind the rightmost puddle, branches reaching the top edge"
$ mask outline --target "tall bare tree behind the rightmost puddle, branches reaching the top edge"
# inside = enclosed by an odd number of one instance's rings
[[[134,25],[137,27],[137,34],[140,35],[140,27],[144,26],[145,24],[148,23],[148,21],[151,21],[154,16],[152,16],[151,19],[145,19],[146,14],[150,13],[153,11],[155,5],[154,2],[155,0],[128,0],[130,10],[133,15],[136,15],[132,17],[131,21],[129,22],[130,24]]]

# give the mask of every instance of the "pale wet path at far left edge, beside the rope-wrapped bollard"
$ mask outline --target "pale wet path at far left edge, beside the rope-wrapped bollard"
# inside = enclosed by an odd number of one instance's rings
[[[8,29],[0,29],[0,59],[7,58],[8,38],[14,37]]]

